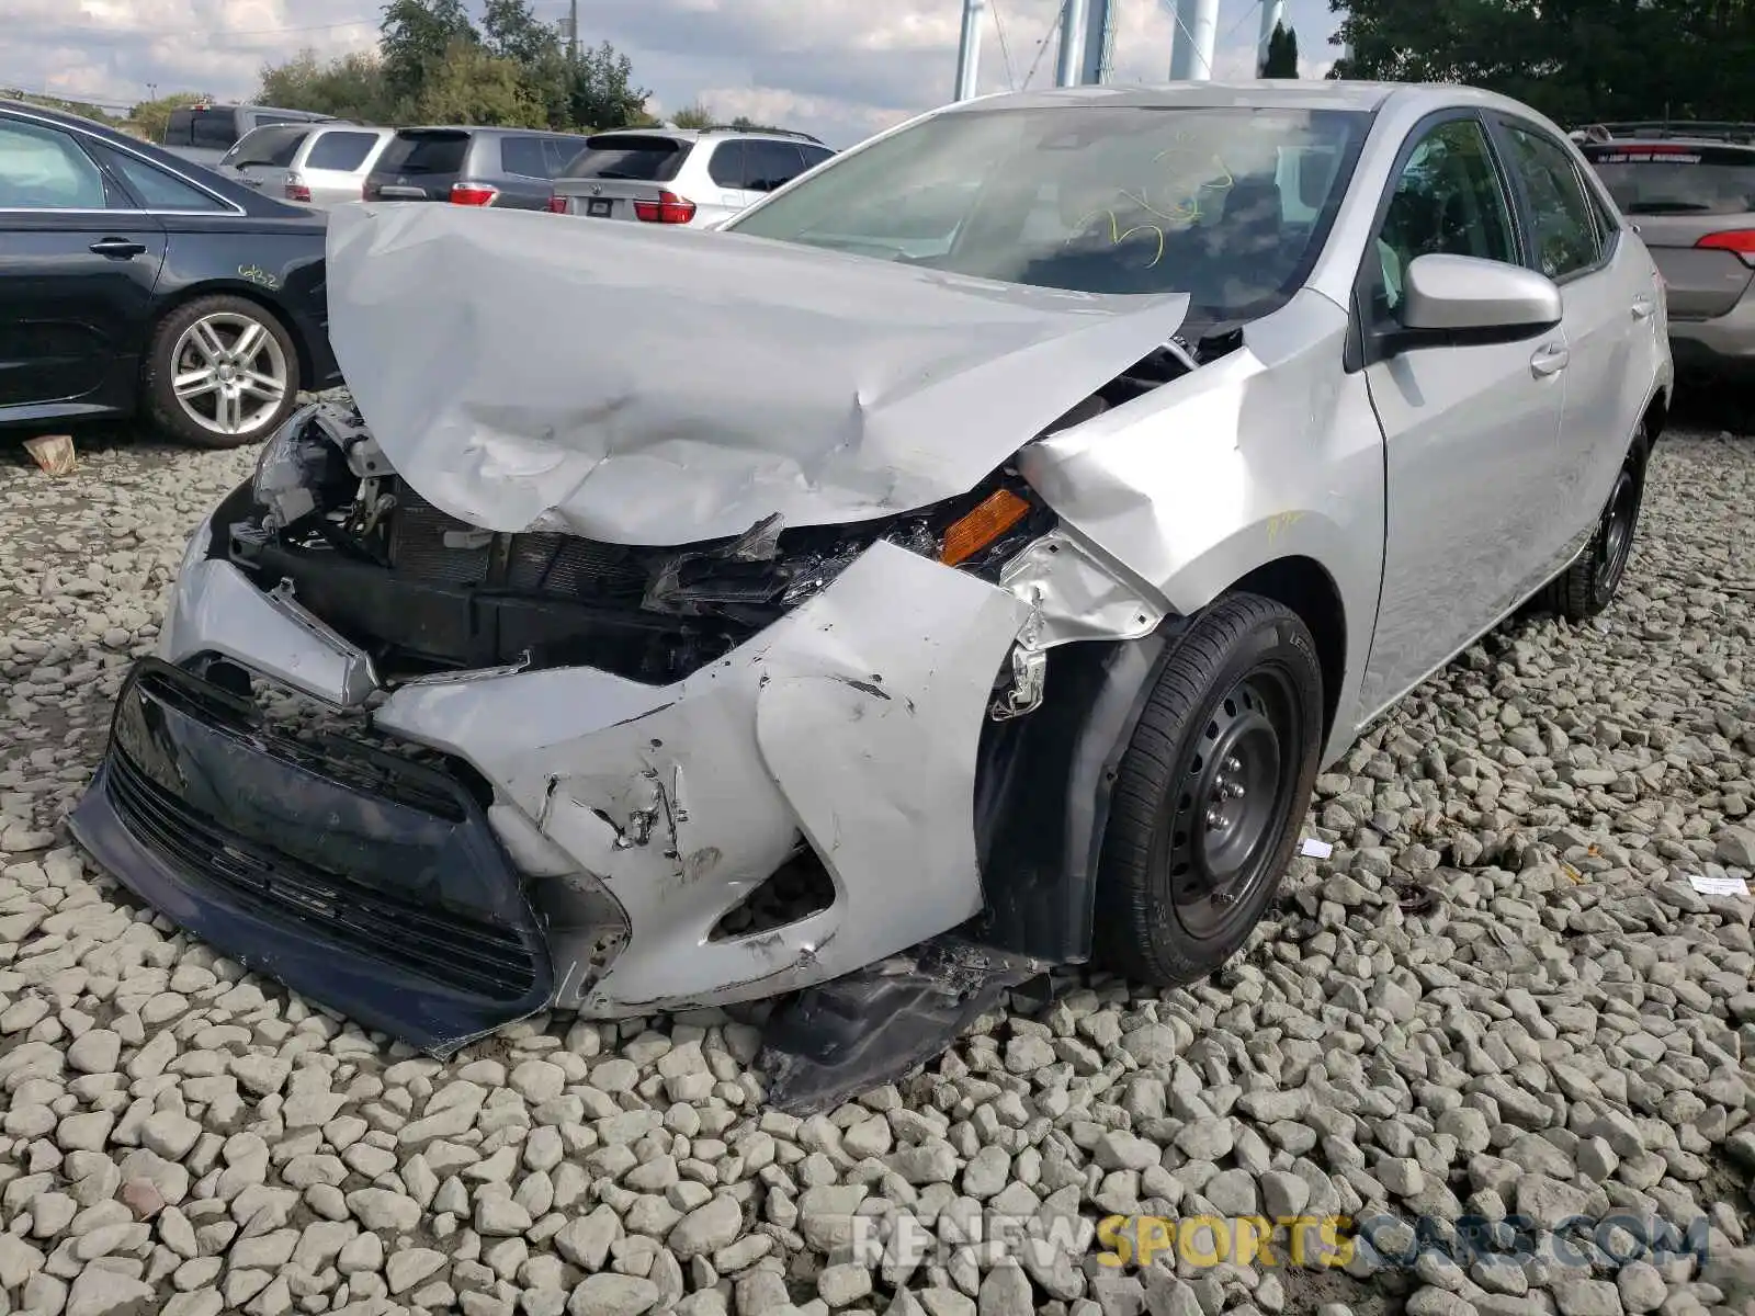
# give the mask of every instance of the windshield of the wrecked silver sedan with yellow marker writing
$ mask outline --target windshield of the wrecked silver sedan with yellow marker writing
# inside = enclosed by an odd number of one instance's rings
[[[1369,114],[953,111],[841,156],[728,230],[1004,283],[1262,314],[1302,283]]]

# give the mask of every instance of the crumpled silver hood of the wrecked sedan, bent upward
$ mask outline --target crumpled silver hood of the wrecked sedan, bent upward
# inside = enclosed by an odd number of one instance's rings
[[[388,204],[330,212],[328,311],[362,418],[433,505],[667,546],[967,493],[1165,342],[1188,298]]]

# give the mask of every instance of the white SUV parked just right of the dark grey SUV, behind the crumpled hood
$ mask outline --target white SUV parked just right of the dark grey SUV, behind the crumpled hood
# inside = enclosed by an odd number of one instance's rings
[[[591,219],[704,228],[834,154],[781,130],[627,128],[597,133],[555,179],[549,209]]]

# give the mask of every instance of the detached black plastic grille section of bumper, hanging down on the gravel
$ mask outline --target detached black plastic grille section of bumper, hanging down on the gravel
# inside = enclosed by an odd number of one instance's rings
[[[179,926],[421,1049],[449,1053],[553,995],[537,912],[465,783],[279,735],[170,663],[130,672],[70,826]]]

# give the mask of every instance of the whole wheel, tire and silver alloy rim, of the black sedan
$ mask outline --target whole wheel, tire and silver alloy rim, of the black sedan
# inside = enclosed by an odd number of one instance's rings
[[[298,351],[256,302],[200,297],[153,330],[142,383],[165,433],[195,447],[242,447],[274,433],[298,402]]]

